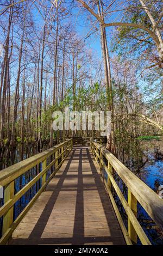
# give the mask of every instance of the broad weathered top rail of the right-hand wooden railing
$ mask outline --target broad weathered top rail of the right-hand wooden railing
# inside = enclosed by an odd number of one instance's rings
[[[124,166],[121,161],[112,155],[109,150],[97,142],[91,142],[98,150],[101,150],[102,155],[109,161],[131,193],[134,194],[137,201],[146,210],[147,214],[163,230],[163,200],[133,172],[131,172],[131,170]]]

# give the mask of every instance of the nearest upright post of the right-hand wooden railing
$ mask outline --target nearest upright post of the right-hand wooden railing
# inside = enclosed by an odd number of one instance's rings
[[[137,217],[137,199],[134,197],[134,195],[131,193],[130,190],[128,190],[128,204],[130,206],[130,209],[134,212],[134,215]],[[133,227],[133,224],[129,220],[129,217],[128,217],[128,234],[131,241],[137,243],[137,234]]]

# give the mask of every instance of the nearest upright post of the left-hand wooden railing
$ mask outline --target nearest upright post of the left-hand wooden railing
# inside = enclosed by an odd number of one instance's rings
[[[4,204],[8,202],[8,200],[12,199],[14,197],[14,182],[11,181],[7,186],[4,188]],[[6,214],[3,216],[3,229],[2,233],[4,234],[8,228],[13,223],[13,217],[14,217],[14,206],[12,206]]]

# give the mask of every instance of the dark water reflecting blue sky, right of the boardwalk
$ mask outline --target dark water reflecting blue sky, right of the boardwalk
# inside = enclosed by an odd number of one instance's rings
[[[135,142],[136,147],[130,147],[130,158],[123,155],[123,163],[133,171],[143,182],[152,188],[156,193],[159,193],[158,188],[163,185],[163,145],[162,141],[142,141]],[[125,152],[125,151],[124,151]],[[121,154],[118,159],[122,161]],[[127,200],[128,188],[123,183],[121,178],[116,174],[116,182],[121,188],[124,197]],[[127,227],[127,215],[123,206],[114,192],[114,197],[118,208],[121,212],[124,223]],[[162,199],[163,200],[163,199]],[[162,245],[163,236],[161,231],[156,227],[156,224],[151,220],[146,211],[138,203],[137,205],[137,219],[139,220],[143,230],[147,234],[149,240],[153,245]],[[138,240],[138,244],[141,242]]]

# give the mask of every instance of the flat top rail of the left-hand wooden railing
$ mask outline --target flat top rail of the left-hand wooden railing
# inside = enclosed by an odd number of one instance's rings
[[[62,142],[58,145],[55,145],[53,148],[47,149],[37,155],[29,157],[21,162],[15,163],[12,166],[9,166],[0,171],[0,185],[5,186],[9,184],[11,181],[18,178],[18,176],[22,175],[23,173],[27,172],[27,170],[36,166],[36,164],[40,163],[41,161],[47,159],[48,156],[51,156],[55,151],[60,149],[63,145],[67,144],[68,142],[72,141],[72,139],[68,139],[66,142]]]

